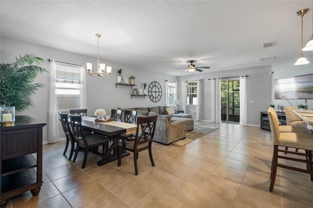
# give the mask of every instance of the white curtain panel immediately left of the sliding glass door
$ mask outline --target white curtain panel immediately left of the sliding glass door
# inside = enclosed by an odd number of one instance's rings
[[[221,119],[221,78],[211,80],[211,122],[222,123]]]

